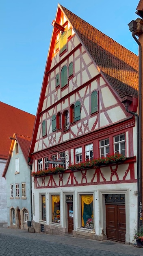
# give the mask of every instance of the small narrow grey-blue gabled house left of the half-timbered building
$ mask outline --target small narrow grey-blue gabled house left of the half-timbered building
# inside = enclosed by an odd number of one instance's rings
[[[2,177],[6,179],[8,227],[28,228],[31,221],[31,186],[28,151],[31,138],[13,134]]]

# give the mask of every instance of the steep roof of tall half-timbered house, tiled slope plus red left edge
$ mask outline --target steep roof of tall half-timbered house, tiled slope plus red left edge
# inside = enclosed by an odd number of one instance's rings
[[[85,47],[93,62],[97,65],[98,70],[100,70],[101,74],[104,76],[104,79],[106,79],[107,83],[114,88],[119,97],[122,97],[127,93],[130,95],[138,95],[138,56],[60,4],[58,4],[56,12],[55,20],[57,23],[60,22],[61,12],[64,13],[65,17],[73,27],[80,43]],[[40,120],[39,113],[42,111],[43,98],[47,86],[48,76],[46,73],[50,71],[56,32],[57,29],[54,27],[45,65],[29,156],[33,152],[35,146]]]

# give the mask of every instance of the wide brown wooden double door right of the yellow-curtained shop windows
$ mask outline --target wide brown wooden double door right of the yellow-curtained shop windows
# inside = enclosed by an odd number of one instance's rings
[[[106,235],[107,239],[125,243],[125,205],[106,204]]]

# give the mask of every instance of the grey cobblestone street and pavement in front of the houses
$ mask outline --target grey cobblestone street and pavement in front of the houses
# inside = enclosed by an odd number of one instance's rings
[[[143,248],[109,240],[28,233],[0,228],[0,256],[143,256]]]

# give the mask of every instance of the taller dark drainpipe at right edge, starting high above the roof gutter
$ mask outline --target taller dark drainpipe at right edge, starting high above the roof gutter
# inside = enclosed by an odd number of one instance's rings
[[[139,45],[139,193],[140,193],[140,205],[139,205],[139,209],[142,212],[142,144],[141,144],[141,140],[142,140],[142,102],[141,102],[141,43],[139,42],[139,40],[137,39],[137,37],[134,35],[134,31],[132,31],[132,37],[134,38],[134,40],[137,42],[137,44]],[[141,215],[140,215],[141,217]],[[140,219],[139,221],[139,228],[142,226],[142,220]]]

